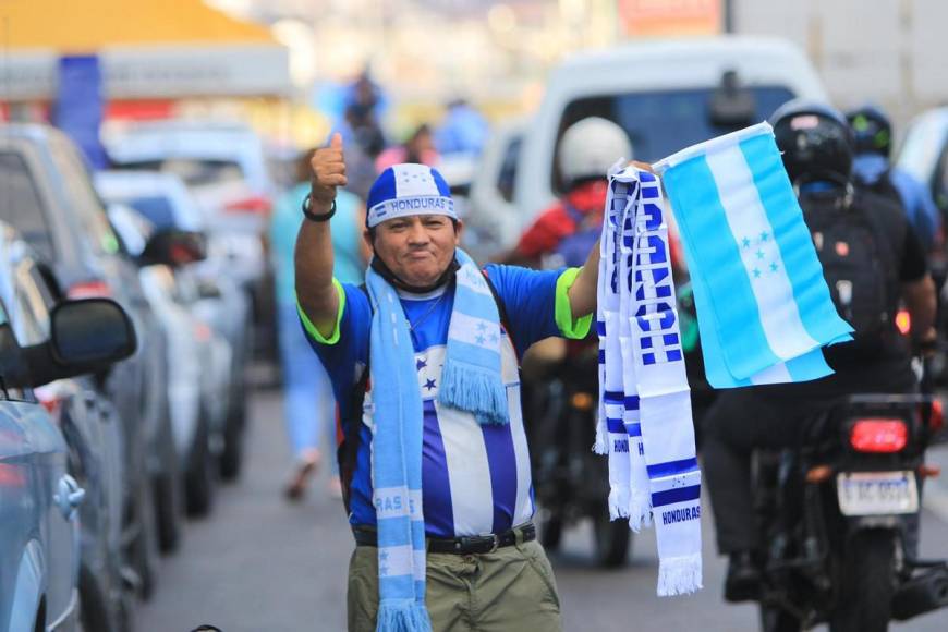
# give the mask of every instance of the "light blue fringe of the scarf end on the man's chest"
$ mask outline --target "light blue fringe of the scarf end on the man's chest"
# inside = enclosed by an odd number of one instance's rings
[[[450,358],[445,363],[438,400],[472,413],[481,424],[510,422],[507,387],[497,379],[497,374],[473,364]]]

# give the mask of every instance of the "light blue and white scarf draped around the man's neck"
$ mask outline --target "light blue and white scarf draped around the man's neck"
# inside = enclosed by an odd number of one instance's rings
[[[454,307],[448,327],[439,401],[482,424],[509,421],[500,373],[500,317],[471,257],[457,250]],[[373,487],[378,521],[378,632],[432,629],[425,608],[422,511],[422,393],[409,323],[396,290],[369,268]]]

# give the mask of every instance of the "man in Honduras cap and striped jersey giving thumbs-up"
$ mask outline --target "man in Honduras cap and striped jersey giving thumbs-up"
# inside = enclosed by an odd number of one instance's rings
[[[338,135],[312,169],[296,296],[340,403],[342,460],[357,446],[344,481],[356,540],[349,629],[559,630],[531,522],[518,357],[543,338],[586,335],[598,245],[582,268],[482,274],[458,247],[440,174],[396,165],[367,200],[367,287],[339,283],[325,221],[347,184]],[[421,544],[404,535],[416,525]]]

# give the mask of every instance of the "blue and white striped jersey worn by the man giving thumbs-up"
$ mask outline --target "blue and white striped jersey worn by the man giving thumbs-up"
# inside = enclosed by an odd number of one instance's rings
[[[566,284],[562,270],[533,271],[491,265],[486,268],[503,302],[513,330],[512,340],[501,330],[501,373],[507,386],[510,424],[481,425],[464,411],[437,401],[454,303],[453,289],[426,295],[400,294],[411,324],[415,369],[424,410],[422,449],[422,505],[429,537],[498,533],[524,523],[534,512],[530,453],[520,403],[518,357],[543,338],[579,336],[557,325],[557,295]],[[574,275],[572,275],[574,276]],[[566,277],[566,275],[563,275]],[[368,362],[372,311],[368,297],[354,285],[343,284],[339,325],[329,340],[306,327],[311,344],[332,380],[343,423],[356,418],[351,408],[352,388]],[[562,312],[562,308],[560,309]],[[560,320],[562,321],[562,319]],[[376,376],[376,379],[379,379]],[[361,415],[360,446],[350,494],[350,522],[375,525],[372,503],[372,385]]]

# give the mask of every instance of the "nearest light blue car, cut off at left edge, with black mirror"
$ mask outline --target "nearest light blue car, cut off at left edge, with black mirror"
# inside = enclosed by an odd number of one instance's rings
[[[69,446],[33,389],[105,369],[135,350],[127,314],[107,299],[64,301],[48,340],[21,347],[0,300],[0,628],[81,630],[77,508]]]

